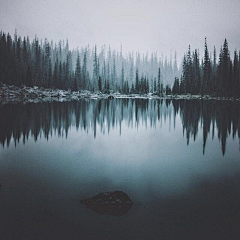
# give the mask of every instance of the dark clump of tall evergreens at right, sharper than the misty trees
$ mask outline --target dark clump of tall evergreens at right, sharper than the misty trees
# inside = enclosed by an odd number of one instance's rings
[[[189,46],[183,58],[181,79],[175,78],[172,93],[240,97],[240,52],[235,50],[232,60],[225,39],[217,60],[216,48],[212,58],[205,38],[204,57],[200,63],[199,51],[191,52]]]

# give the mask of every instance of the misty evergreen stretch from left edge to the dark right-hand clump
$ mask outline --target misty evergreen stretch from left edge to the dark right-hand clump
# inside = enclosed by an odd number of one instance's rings
[[[156,52],[123,56],[122,47],[118,52],[105,45],[99,53],[96,45],[70,50],[68,41],[30,41],[0,32],[0,81],[6,84],[147,93],[158,88],[159,78],[171,84],[174,76],[180,76],[176,52],[168,60]]]

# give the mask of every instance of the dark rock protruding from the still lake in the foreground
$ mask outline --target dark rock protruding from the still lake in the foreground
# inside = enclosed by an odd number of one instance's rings
[[[133,205],[132,200],[122,191],[99,193],[80,202],[96,213],[111,216],[123,216]]]

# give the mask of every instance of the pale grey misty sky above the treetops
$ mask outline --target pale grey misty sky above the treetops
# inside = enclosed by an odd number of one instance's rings
[[[240,49],[240,0],[0,0],[0,29],[35,34],[70,47],[110,44],[126,53],[158,51],[178,57],[188,45],[202,52],[204,37],[219,50],[226,37]],[[233,55],[233,52],[231,56]]]

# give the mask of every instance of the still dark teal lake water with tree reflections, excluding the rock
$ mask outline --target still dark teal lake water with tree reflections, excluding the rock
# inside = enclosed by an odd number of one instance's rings
[[[0,107],[0,239],[239,239],[240,103]],[[121,190],[120,217],[79,200]]]

